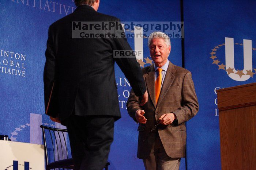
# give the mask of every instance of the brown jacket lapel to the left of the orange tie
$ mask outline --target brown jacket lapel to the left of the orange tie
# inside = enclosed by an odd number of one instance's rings
[[[155,69],[154,69],[154,64],[151,65],[147,71],[147,76],[145,77],[146,80],[146,85],[147,85],[147,90],[148,94],[151,98],[151,101],[156,108],[155,104]]]

